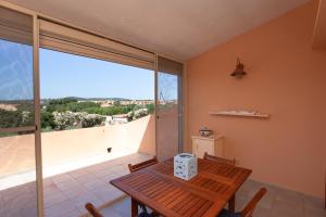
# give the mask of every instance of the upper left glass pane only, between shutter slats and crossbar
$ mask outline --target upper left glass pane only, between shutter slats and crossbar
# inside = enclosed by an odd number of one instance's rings
[[[34,125],[33,47],[0,39],[0,128]]]

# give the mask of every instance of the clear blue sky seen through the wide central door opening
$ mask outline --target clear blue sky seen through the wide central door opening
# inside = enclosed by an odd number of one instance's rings
[[[41,99],[154,99],[153,71],[40,49]]]

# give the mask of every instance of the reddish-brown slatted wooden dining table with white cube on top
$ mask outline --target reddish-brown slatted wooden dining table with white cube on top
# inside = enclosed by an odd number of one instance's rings
[[[228,203],[235,209],[235,194],[250,169],[198,158],[198,175],[186,181],[174,177],[173,158],[113,179],[110,182],[131,197],[131,216],[137,202],[162,216],[215,217]]]

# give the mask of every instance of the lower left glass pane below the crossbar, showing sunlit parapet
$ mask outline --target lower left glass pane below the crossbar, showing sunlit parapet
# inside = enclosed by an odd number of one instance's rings
[[[0,135],[0,216],[37,216],[34,133]]]

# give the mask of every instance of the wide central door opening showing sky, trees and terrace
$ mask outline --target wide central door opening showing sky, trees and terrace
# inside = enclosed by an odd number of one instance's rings
[[[85,210],[78,202],[85,195],[96,206],[120,197],[108,186],[110,169],[155,152],[154,72],[40,49],[40,84],[46,215],[61,209],[53,194],[76,216]],[[96,191],[89,187],[93,181]],[[66,194],[66,184],[83,194]]]

